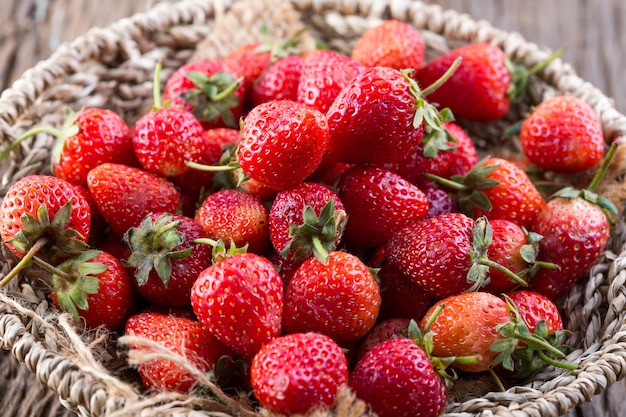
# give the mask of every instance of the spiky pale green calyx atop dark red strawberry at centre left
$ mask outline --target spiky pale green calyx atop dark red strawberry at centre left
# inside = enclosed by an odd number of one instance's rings
[[[167,288],[172,274],[172,259],[187,257],[192,247],[177,250],[185,243],[185,236],[179,232],[182,220],[172,220],[172,215],[164,213],[154,220],[148,214],[139,227],[131,227],[124,233],[122,242],[131,254],[126,264],[136,268],[135,278],[139,285],[144,285],[150,273],[156,271]]]

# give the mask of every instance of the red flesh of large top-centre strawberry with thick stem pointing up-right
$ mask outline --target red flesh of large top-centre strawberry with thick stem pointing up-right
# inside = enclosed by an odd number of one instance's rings
[[[421,142],[409,80],[398,70],[363,70],[328,109],[328,152],[337,161],[383,164],[402,159]]]

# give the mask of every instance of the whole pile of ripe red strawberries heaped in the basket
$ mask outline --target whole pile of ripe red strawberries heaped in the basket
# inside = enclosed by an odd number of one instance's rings
[[[132,126],[87,108],[43,128],[52,175],[0,206],[20,259],[2,285],[44,269],[87,327],[151,339],[280,414],[347,385],[381,417],[437,416],[455,378],[575,369],[555,302],[609,238],[594,189],[614,148],[589,105],[557,96],[506,139],[516,159],[479,158],[464,122],[502,120],[532,73],[491,44],[424,50],[394,20],[351,56],[249,44],[162,92],[157,67]],[[598,167],[584,190],[541,185]],[[172,361],[138,374],[202,388]]]

